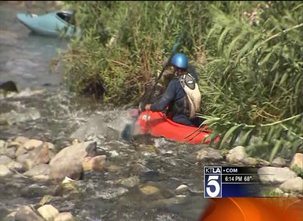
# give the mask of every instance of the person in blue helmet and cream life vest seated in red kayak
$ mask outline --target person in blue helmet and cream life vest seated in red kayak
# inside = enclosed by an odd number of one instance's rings
[[[162,98],[152,104],[140,103],[139,110],[150,109],[153,112],[164,111],[167,116],[187,126],[198,126],[196,112],[201,108],[201,93],[198,89],[198,76],[194,67],[188,64],[187,56],[177,53],[171,59],[174,78],[168,83]]]

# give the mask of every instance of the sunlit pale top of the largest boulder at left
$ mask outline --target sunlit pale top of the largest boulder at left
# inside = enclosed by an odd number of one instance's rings
[[[92,141],[81,142],[76,145],[65,147],[53,159],[51,159],[50,166],[53,166],[60,161],[68,161],[69,159],[82,162],[86,156],[95,156],[96,147],[97,142]]]

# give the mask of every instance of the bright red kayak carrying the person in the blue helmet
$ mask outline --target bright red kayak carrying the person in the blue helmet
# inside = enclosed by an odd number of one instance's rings
[[[210,142],[210,139],[203,141],[211,133],[207,126],[197,128],[175,123],[162,112],[152,112],[150,110],[140,112],[135,125],[137,134],[150,134],[154,137],[163,137],[194,145]]]

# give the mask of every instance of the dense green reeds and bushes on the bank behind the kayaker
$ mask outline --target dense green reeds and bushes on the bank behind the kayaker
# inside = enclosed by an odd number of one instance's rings
[[[201,116],[271,161],[303,151],[303,2],[67,1],[82,36],[63,55],[67,86],[137,105],[180,34],[199,73]],[[259,6],[258,6],[259,5]],[[257,10],[257,17],[245,14]]]

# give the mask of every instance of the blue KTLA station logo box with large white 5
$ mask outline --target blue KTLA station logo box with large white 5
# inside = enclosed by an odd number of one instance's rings
[[[220,166],[204,167],[204,197],[220,198],[222,197],[222,168]]]

